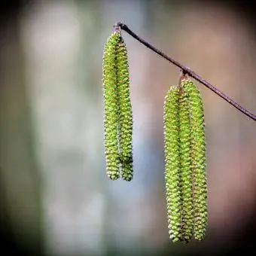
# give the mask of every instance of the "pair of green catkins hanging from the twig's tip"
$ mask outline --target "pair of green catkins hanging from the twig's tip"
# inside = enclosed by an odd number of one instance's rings
[[[103,55],[104,141],[107,175],[133,178],[133,117],[126,44],[113,32]]]

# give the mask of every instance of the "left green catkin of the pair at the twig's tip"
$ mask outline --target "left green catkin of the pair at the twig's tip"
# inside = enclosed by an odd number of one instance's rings
[[[116,52],[120,34],[114,32],[105,44],[103,54],[104,142],[108,178],[119,178],[118,99]]]

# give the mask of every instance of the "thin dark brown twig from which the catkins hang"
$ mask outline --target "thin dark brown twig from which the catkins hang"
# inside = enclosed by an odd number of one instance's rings
[[[183,66],[181,63],[177,62],[175,59],[172,59],[172,57],[167,56],[165,53],[163,53],[161,50],[158,50],[153,45],[149,44],[147,41],[140,38],[136,33],[134,33],[132,30],[126,26],[126,24],[118,22],[115,23],[114,26],[119,26],[120,29],[123,29],[123,31],[127,32],[129,35],[131,35],[133,38],[138,40],[140,43],[144,44],[146,47],[153,50],[158,55],[162,56],[164,59],[167,59],[169,62],[172,62],[175,66],[180,68],[184,74],[189,75],[191,78],[194,78],[195,80],[199,81],[201,84],[208,87],[210,90],[212,90],[214,93],[216,93],[218,96],[220,96],[222,99],[233,105],[236,109],[241,111],[243,114],[250,117],[252,120],[256,121],[256,116],[252,114],[248,109],[243,108],[241,105],[239,105],[237,102],[235,102],[233,99],[230,99],[229,96],[222,93],[220,90],[218,90],[214,85],[210,84],[209,81],[206,81],[205,79],[201,78],[200,75],[197,75],[193,70],[187,68],[186,66]]]

